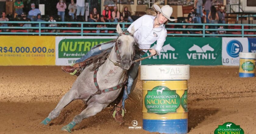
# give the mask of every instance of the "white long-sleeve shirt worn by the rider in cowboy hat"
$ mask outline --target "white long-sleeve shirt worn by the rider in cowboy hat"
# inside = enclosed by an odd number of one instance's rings
[[[135,32],[133,37],[136,39],[140,49],[149,49],[151,44],[157,41],[155,50],[157,51],[157,55],[159,55],[165,42],[167,31],[164,24],[161,25],[162,27],[153,28],[155,17],[150,15],[141,16],[127,30],[131,32],[131,28],[134,26]]]

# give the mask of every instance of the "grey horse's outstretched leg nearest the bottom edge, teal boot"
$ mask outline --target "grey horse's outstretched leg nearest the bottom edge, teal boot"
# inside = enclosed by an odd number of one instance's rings
[[[87,106],[87,108],[84,109],[79,115],[76,115],[73,118],[73,121],[70,122],[68,125],[62,127],[63,131],[71,132],[71,129],[78,123],[80,123],[84,118],[88,118],[91,116],[96,115],[98,112],[100,112],[102,109],[107,107],[106,104],[98,104],[98,103],[91,103]]]

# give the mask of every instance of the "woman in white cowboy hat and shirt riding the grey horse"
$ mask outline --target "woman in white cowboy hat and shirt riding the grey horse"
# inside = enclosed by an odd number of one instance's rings
[[[161,2],[161,1],[160,1]],[[132,26],[134,26],[134,38],[137,41],[137,47],[140,49],[149,49],[151,44],[157,41],[156,48],[149,50],[151,55],[159,55],[162,50],[162,46],[165,42],[165,38],[167,36],[167,31],[165,29],[166,23],[168,20],[175,21],[176,19],[170,19],[172,15],[172,7],[169,5],[165,5],[162,8],[158,6],[160,2],[156,2],[153,5],[153,10],[148,10],[147,15],[141,16],[139,19],[134,21],[129,28],[127,29],[129,32],[131,31]],[[82,58],[76,60],[76,63],[83,62],[87,58],[91,56],[95,56],[100,54],[102,51],[112,48],[115,45],[115,42],[101,44],[100,46],[95,46],[86,55]],[[136,51],[133,59],[139,59],[144,55],[144,51]],[[128,70],[128,81],[127,88],[124,90],[122,101],[117,105],[115,116],[116,121],[119,123],[123,122],[122,117],[122,108],[124,109],[124,101],[128,98],[128,95],[131,93],[131,88],[133,84],[133,80],[137,78],[137,72],[139,68],[140,62],[135,62],[133,66]],[[65,72],[73,72],[73,66],[63,66],[62,69]],[[122,102],[122,103],[121,103]]]

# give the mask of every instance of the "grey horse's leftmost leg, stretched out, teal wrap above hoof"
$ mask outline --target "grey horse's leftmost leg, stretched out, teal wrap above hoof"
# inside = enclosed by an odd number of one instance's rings
[[[76,98],[76,91],[75,90],[69,90],[59,101],[57,104],[56,108],[53,109],[50,114],[48,115],[47,118],[45,118],[41,124],[47,125],[52,119],[56,118],[59,116],[60,111],[71,101],[77,99]]]

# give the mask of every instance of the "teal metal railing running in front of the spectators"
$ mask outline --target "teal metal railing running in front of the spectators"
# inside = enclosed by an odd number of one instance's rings
[[[98,22],[23,22],[23,21],[0,21],[0,24],[7,24],[8,26],[0,26],[0,35],[117,35],[117,23],[98,23]],[[17,26],[20,24],[31,24],[31,27]],[[34,26],[34,25],[39,26]],[[42,27],[42,24],[57,24],[58,27]],[[98,24],[106,25],[106,27],[92,27]],[[131,23],[120,23],[122,30],[126,30]],[[194,26],[196,28],[180,28],[182,25]],[[225,30],[221,29],[206,29],[205,26],[224,26]],[[177,28],[178,27],[178,28]],[[198,37],[256,37],[256,24],[206,24],[206,23],[168,23],[165,26],[168,36],[198,36]],[[3,32],[8,29],[8,31]],[[32,32],[27,32],[30,29]],[[48,30],[48,31],[47,31]],[[59,32],[52,32],[56,30]],[[96,30],[108,30],[108,33],[96,33]],[[192,34],[181,34],[180,31],[192,31]],[[111,31],[111,32],[110,32]],[[205,31],[211,33],[215,31],[226,31],[226,34],[207,34]]]

